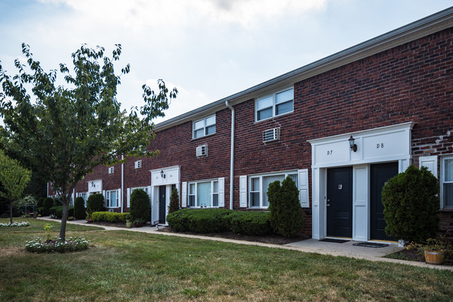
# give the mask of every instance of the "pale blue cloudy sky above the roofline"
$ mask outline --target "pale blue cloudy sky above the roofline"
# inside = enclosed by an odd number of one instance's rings
[[[452,6],[444,0],[0,0],[0,62],[14,75],[22,42],[45,70],[81,45],[121,44],[117,99],[141,86],[179,91],[174,118]]]

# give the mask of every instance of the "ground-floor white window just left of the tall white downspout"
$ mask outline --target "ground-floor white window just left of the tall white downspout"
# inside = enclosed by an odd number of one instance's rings
[[[192,182],[189,184],[189,207],[218,207],[219,182]]]

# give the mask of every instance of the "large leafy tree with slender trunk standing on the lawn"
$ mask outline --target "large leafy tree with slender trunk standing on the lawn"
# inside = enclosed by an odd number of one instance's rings
[[[143,106],[135,106],[130,113],[121,111],[116,93],[121,75],[127,74],[130,66],[119,75],[115,73],[121,45],[116,45],[112,58],[104,52],[103,47],[82,45],[72,54],[73,74],[60,64],[59,72],[67,86],[57,86],[57,70],[45,72],[25,44],[22,53],[28,66],[17,59],[15,77],[8,76],[0,64],[0,118],[5,125],[0,128],[5,137],[0,145],[52,182],[61,195],[61,239],[66,237],[70,192],[77,182],[95,166],[123,162],[121,155],[158,154],[141,146],[149,145],[155,137],[153,118],[164,116],[168,99],[178,93],[176,88],[169,92],[159,80],[157,93],[142,86]],[[27,91],[30,87],[33,97]]]

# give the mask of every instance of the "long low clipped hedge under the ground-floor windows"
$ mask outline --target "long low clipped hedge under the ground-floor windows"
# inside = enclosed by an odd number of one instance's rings
[[[228,232],[269,235],[268,212],[239,212],[231,209],[180,209],[167,215],[169,226],[178,232]]]

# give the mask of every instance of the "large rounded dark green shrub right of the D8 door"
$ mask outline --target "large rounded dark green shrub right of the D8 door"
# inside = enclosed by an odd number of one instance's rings
[[[436,237],[439,218],[437,178],[426,167],[410,165],[382,190],[385,233],[404,241],[421,242]]]

